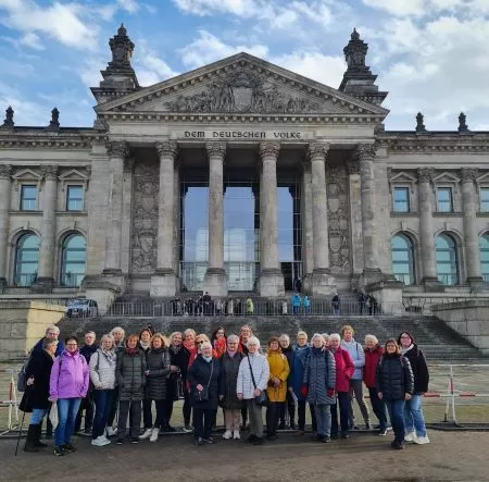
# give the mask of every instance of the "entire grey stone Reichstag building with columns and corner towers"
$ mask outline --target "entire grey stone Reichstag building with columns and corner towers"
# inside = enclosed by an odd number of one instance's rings
[[[248,53],[150,87],[122,25],[93,126],[0,127],[0,287],[171,297],[485,289],[489,133],[389,132],[356,30],[338,88]]]

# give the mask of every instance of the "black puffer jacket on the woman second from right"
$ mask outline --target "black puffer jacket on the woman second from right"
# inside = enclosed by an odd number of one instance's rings
[[[414,379],[410,360],[401,355],[384,354],[377,364],[377,392],[385,400],[403,400],[413,394]]]

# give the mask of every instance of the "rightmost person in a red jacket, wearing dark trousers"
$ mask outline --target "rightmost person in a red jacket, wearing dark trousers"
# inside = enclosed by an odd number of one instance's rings
[[[383,357],[384,348],[374,335],[365,336],[365,367],[363,368],[363,381],[368,388],[372,409],[378,419],[379,435],[387,435],[387,407],[384,400],[377,396],[375,378],[378,360]]]

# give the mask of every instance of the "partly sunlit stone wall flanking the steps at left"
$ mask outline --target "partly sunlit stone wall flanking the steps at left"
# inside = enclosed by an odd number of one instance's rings
[[[24,357],[64,312],[64,306],[41,301],[0,302],[0,361]]]

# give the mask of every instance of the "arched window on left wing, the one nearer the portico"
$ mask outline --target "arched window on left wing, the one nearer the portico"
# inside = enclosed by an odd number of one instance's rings
[[[85,276],[87,263],[87,242],[80,234],[70,234],[64,238],[61,257],[61,285],[79,286]]]

